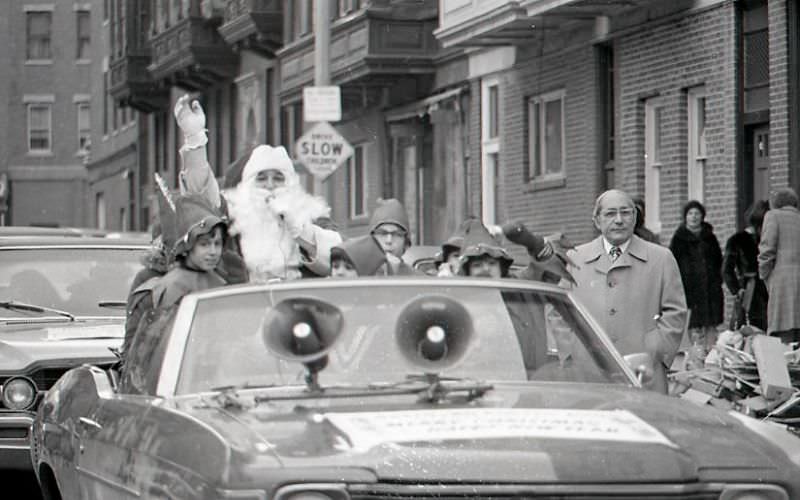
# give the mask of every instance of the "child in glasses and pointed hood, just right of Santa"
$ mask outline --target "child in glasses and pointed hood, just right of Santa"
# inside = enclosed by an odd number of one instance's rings
[[[378,269],[379,275],[415,274],[414,269],[403,261],[403,254],[411,246],[408,214],[395,198],[378,199],[378,206],[369,220],[369,234],[383,248],[386,264]]]

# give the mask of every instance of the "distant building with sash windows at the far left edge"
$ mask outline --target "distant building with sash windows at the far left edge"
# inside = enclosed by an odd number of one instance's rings
[[[83,225],[91,2],[0,2],[2,223]]]

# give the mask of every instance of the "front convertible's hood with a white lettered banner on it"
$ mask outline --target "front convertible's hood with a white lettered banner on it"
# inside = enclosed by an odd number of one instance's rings
[[[669,483],[787,467],[723,412],[607,386],[497,387],[462,405],[395,396],[198,408],[183,409],[240,443],[231,470],[257,463],[257,449],[287,469],[366,469],[379,481]]]

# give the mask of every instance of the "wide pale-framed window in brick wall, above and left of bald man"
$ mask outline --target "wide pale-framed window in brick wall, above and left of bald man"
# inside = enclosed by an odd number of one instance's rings
[[[564,176],[564,92],[528,100],[528,175]]]

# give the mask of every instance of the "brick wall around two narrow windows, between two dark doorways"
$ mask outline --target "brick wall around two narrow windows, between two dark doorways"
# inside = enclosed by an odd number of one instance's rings
[[[707,220],[722,244],[736,230],[735,7],[723,2],[643,26],[616,41],[620,185],[644,194],[644,110],[662,99],[661,241],[668,244],[688,198],[688,90],[705,86]]]

